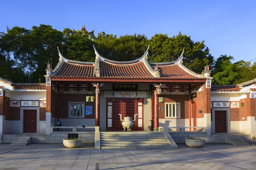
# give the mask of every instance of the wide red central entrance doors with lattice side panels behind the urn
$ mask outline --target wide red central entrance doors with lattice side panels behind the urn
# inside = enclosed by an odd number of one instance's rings
[[[123,99],[107,99],[107,127],[106,130],[123,130],[122,122],[120,120],[120,115],[122,114],[122,119],[124,117],[132,117],[134,119],[134,114],[136,115],[136,120],[133,121],[134,125],[132,130],[143,130],[143,114],[142,114],[142,104],[143,99],[133,99],[133,98],[123,98]],[[110,114],[111,112],[111,114]]]

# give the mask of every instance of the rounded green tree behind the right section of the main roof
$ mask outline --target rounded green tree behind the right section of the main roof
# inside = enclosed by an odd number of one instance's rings
[[[179,33],[176,36],[168,37],[167,34],[155,34],[149,41],[151,46],[149,59],[151,62],[171,62],[183,54],[183,63],[191,70],[201,73],[208,64],[213,67],[214,59],[209,53],[209,48],[204,41],[194,42],[190,36]]]

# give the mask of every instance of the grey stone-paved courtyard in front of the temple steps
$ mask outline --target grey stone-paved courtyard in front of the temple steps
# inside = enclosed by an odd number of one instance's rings
[[[0,144],[0,170],[256,170],[256,145],[96,150],[92,144]]]

